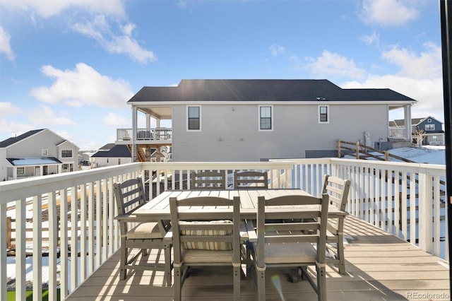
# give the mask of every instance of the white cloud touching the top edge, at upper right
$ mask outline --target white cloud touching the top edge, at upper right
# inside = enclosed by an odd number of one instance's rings
[[[361,17],[365,23],[399,26],[415,20],[419,12],[412,0],[364,0]]]

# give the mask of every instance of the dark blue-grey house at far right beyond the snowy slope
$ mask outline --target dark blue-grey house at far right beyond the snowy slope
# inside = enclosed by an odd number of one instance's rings
[[[389,126],[393,129],[404,129],[405,120],[396,119],[389,122]],[[443,123],[439,122],[432,116],[411,119],[412,136],[422,131],[422,145],[428,146],[444,146],[444,130]],[[417,142],[417,141],[413,141]]]

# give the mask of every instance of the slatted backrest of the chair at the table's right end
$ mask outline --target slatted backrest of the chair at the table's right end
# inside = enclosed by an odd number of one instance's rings
[[[330,196],[330,203],[345,211],[347,207],[347,198],[350,191],[350,179],[341,179],[331,175],[325,175],[323,178],[322,194]]]

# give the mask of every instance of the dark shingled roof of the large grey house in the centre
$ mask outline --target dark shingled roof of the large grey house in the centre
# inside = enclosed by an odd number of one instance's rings
[[[129,102],[412,101],[391,89],[343,89],[326,79],[191,79],[177,87],[143,87]]]

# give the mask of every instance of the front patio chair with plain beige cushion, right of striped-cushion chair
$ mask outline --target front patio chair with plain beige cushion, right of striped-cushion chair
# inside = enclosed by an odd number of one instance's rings
[[[309,211],[295,211],[293,205],[312,206]],[[320,206],[319,206],[320,205]],[[276,210],[278,208],[278,210]],[[299,268],[317,293],[326,300],[326,223],[328,194],[314,196],[258,196],[257,242],[254,242],[254,269],[258,300],[266,300],[266,269],[290,268],[292,281],[297,281]],[[293,223],[267,223],[269,220],[297,220]],[[316,244],[316,247],[313,246]],[[315,266],[316,282],[307,272]],[[278,288],[277,288],[278,290]],[[283,292],[280,292],[281,294]]]

